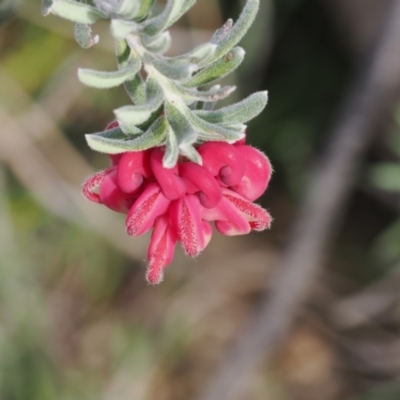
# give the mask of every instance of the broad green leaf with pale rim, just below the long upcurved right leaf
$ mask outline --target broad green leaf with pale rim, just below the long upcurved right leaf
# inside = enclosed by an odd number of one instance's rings
[[[214,64],[199,71],[193,78],[185,82],[185,86],[202,86],[222,79],[233,72],[242,63],[244,55],[245,51],[241,47],[235,47]]]

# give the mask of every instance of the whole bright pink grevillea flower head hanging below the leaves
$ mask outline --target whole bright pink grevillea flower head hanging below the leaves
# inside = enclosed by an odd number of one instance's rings
[[[269,213],[253,203],[272,172],[262,152],[243,140],[207,142],[197,151],[202,165],[181,159],[171,169],[162,165],[163,147],[113,155],[112,166],[83,185],[87,199],[127,215],[128,235],[153,229],[146,275],[152,284],[162,281],[178,242],[191,257],[206,248],[210,222],[229,236],[262,231],[271,224]]]

